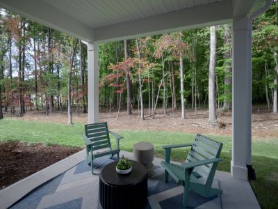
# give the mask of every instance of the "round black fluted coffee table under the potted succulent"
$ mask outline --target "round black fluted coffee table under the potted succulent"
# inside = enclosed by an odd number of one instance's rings
[[[143,208],[147,201],[147,170],[140,162],[132,162],[132,171],[117,173],[117,162],[108,164],[99,176],[99,201],[107,208]]]

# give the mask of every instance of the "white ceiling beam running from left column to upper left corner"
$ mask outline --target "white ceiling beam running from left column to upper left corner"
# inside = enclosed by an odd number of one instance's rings
[[[66,3],[66,1],[65,1]],[[0,7],[17,13],[29,20],[40,22],[70,36],[85,41],[93,40],[93,29],[57,10],[43,1],[37,0],[0,0]]]

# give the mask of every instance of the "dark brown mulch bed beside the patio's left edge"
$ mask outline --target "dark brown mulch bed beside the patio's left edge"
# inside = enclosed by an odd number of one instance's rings
[[[28,145],[19,141],[0,144],[0,189],[63,160],[82,148],[44,144]]]

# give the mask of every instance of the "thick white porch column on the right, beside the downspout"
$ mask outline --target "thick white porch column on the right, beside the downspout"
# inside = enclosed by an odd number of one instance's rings
[[[233,19],[233,139],[231,175],[247,180],[251,164],[252,123],[252,21],[249,17]]]

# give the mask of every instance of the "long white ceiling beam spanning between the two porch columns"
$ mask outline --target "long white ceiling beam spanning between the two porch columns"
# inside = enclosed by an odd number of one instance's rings
[[[224,24],[231,22],[232,17],[232,1],[220,1],[172,13],[95,28],[94,41],[124,40],[213,24]]]

